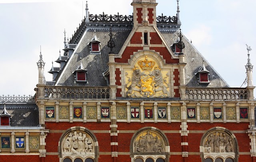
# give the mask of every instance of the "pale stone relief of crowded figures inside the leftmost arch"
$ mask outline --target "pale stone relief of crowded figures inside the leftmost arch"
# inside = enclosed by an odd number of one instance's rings
[[[68,137],[64,137],[62,143],[64,153],[94,152],[92,138],[84,132],[69,133]]]

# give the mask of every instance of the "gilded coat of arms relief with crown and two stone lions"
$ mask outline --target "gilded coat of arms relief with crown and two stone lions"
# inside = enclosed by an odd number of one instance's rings
[[[169,74],[156,61],[145,56],[132,70],[126,70],[126,97],[167,98],[169,97]]]

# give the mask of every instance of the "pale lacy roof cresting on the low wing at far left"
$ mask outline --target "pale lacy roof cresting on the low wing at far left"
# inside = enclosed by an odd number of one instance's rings
[[[15,96],[15,95],[7,95],[7,96],[0,96],[0,103],[35,103],[34,96],[28,95],[28,96]]]

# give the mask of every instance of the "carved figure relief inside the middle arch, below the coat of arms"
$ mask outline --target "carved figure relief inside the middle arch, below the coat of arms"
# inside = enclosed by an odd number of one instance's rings
[[[165,152],[164,145],[162,140],[158,137],[158,135],[147,131],[142,133],[139,137],[137,137],[137,141],[134,142],[134,152],[136,153],[144,153],[144,152]]]

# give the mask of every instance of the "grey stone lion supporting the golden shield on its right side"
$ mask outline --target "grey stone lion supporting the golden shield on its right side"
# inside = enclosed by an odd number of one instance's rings
[[[162,94],[163,94],[162,97],[168,97],[167,87],[164,86],[164,80],[163,80],[161,68],[159,66],[156,66],[155,69],[150,74],[150,76],[154,76],[155,92],[162,91]]]

